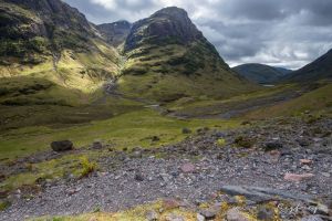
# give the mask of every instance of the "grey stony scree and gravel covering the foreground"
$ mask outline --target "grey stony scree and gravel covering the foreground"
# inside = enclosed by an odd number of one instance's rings
[[[86,178],[41,181],[42,191],[32,199],[11,194],[12,206],[0,220],[95,208],[114,212],[156,200],[166,209],[194,211],[197,220],[332,220],[332,120],[243,125],[231,131],[200,129],[156,149],[113,150],[100,159],[100,171]],[[157,220],[165,208],[147,212],[146,219]],[[170,214],[166,220],[185,218]]]

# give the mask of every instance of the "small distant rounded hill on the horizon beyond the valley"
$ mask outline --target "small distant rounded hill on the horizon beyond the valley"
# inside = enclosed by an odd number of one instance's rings
[[[259,84],[274,83],[291,72],[290,70],[287,69],[274,67],[274,66],[257,64],[257,63],[242,64],[232,67],[232,70],[239,73],[241,76],[248,78],[249,81]]]

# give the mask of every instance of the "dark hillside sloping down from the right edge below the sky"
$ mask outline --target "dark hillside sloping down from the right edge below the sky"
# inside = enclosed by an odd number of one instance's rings
[[[302,69],[286,76],[283,81],[290,82],[314,82],[332,78],[332,49],[325,54],[303,66]]]

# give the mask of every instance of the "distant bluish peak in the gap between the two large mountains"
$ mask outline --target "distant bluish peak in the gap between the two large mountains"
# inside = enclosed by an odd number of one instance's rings
[[[106,42],[114,46],[118,46],[125,42],[127,35],[129,34],[131,28],[132,24],[127,21],[116,21],[96,27]]]

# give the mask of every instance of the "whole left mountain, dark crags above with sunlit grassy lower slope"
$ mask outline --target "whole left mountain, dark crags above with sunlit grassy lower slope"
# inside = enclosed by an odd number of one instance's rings
[[[118,72],[117,52],[60,0],[0,0],[0,77],[33,76],[95,90]]]

